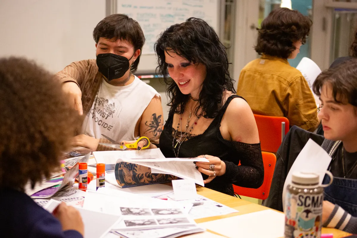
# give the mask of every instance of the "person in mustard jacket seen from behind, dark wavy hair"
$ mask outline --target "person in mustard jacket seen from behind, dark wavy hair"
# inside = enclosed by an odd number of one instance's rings
[[[306,42],[312,21],[285,7],[270,12],[258,29],[255,50],[261,58],[241,71],[237,94],[244,97],[253,113],[286,117],[290,125],[314,131],[318,125],[317,106],[301,72],[291,67]]]

